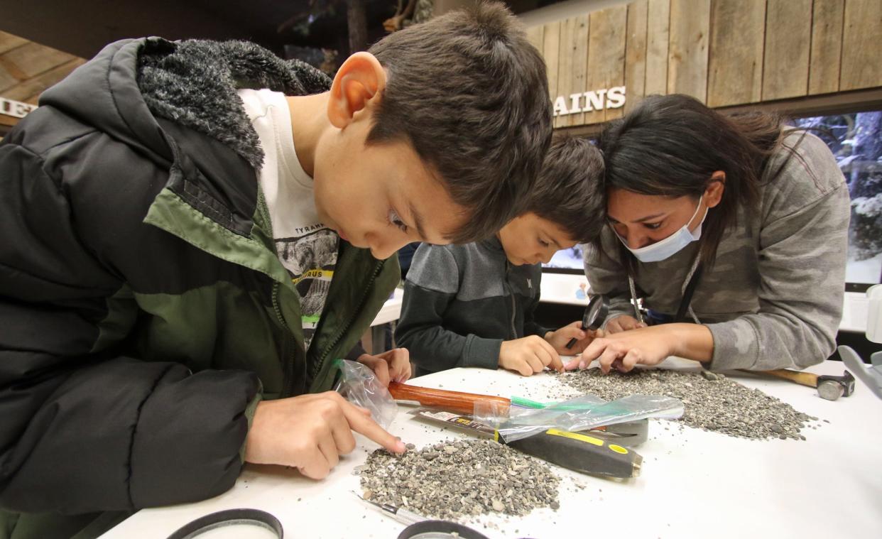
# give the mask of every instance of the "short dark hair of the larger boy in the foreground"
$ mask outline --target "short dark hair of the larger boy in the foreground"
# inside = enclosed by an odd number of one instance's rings
[[[504,4],[480,3],[370,48],[388,73],[368,143],[405,140],[466,222],[447,239],[495,234],[518,213],[551,138],[545,62]]]

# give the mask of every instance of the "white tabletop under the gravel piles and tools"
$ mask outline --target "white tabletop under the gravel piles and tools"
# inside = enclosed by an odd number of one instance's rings
[[[666,366],[694,368],[695,363],[671,358]],[[842,364],[826,362],[809,371],[841,375]],[[557,512],[542,509],[517,520],[485,517],[498,529],[482,532],[553,539],[882,536],[882,401],[859,382],[852,396],[824,401],[815,390],[784,380],[731,377],[830,423],[803,430],[807,441],[758,441],[689,427],[681,432],[675,425],[666,430],[669,423],[652,421],[649,440],[637,448],[644,458],[638,478],[617,482],[555,468],[564,477]],[[412,383],[536,400],[562,391],[549,375],[520,378],[478,369],[455,369]],[[390,430],[418,447],[467,436],[405,413]],[[234,507],[273,513],[287,537],[397,537],[403,525],[352,493],[361,491],[353,468],[376,448],[365,438],[359,442],[325,481],[304,479],[290,469],[249,465],[235,487],[217,498],[140,511],[104,537],[166,537],[189,520]]]

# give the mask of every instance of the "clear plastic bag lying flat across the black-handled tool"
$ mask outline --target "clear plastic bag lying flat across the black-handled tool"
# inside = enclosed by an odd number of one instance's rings
[[[548,429],[579,431],[647,417],[676,419],[683,411],[682,401],[662,395],[629,395],[607,402],[586,394],[542,409],[512,407],[507,414],[492,402],[475,403],[475,419],[493,425],[506,442]]]

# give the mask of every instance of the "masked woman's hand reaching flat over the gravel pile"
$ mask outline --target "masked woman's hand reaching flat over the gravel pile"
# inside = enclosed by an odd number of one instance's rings
[[[707,362],[714,355],[714,337],[707,326],[697,324],[662,324],[640,327],[620,333],[608,333],[594,339],[578,359],[564,369],[585,369],[595,359],[601,371],[631,371],[635,365],[656,365],[668,356]]]

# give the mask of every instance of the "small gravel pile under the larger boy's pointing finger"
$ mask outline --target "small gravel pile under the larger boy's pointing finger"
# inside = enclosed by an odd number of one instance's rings
[[[378,449],[355,474],[364,498],[430,518],[523,515],[560,506],[560,478],[547,464],[490,440],[448,440],[403,455]]]

